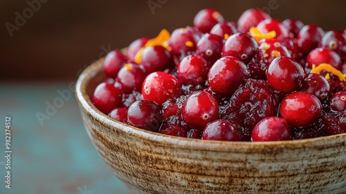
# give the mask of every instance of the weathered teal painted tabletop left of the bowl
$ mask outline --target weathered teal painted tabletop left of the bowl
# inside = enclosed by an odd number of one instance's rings
[[[66,89],[66,90],[65,90]],[[46,114],[46,102],[56,104]],[[69,96],[69,95],[66,95]],[[37,112],[50,119],[37,119]],[[5,116],[11,116],[11,188],[5,188]],[[129,193],[104,164],[87,136],[69,83],[0,84],[0,193]]]

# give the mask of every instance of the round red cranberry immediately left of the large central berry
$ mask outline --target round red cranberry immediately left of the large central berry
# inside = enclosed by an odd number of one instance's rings
[[[206,81],[209,65],[200,55],[188,55],[176,67],[178,80],[183,85],[200,85]]]

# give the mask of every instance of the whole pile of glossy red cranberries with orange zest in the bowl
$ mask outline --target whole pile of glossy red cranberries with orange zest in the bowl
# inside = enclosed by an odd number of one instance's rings
[[[93,104],[152,132],[282,141],[346,132],[346,30],[204,9],[193,27],[108,53]]]

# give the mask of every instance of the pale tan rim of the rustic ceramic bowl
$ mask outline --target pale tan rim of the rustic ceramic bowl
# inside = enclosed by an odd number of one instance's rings
[[[346,133],[335,134],[331,136],[322,136],[311,139],[299,139],[299,140],[288,140],[288,141],[262,141],[262,142],[251,142],[251,141],[212,141],[202,139],[188,139],[179,136],[170,136],[166,134],[160,134],[158,132],[150,132],[147,130],[133,127],[125,123],[120,123],[115,119],[107,116],[100,112],[91,103],[90,97],[86,92],[86,87],[89,85],[89,80],[96,76],[102,71],[102,63],[104,58],[96,60],[89,67],[86,67],[80,74],[78,81],[75,85],[75,96],[78,104],[83,111],[91,116],[94,121],[98,123],[105,123],[110,128],[118,128],[122,132],[136,136],[140,139],[146,139],[153,143],[164,143],[174,147],[185,147],[193,148],[197,150],[248,150],[255,151],[257,149],[274,149],[275,148],[307,148],[316,147],[318,145],[326,145],[327,143],[341,142],[345,145]]]

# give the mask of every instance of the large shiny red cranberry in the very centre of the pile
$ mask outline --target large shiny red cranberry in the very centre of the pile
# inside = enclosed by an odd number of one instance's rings
[[[217,60],[210,69],[208,84],[217,94],[232,95],[249,74],[244,62],[238,58],[224,57]]]

